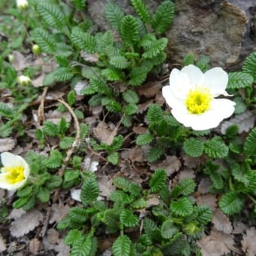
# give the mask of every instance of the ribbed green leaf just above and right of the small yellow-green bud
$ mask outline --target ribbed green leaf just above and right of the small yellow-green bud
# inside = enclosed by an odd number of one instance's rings
[[[36,44],[39,45],[42,51],[45,53],[55,53],[56,51],[56,41],[50,34],[41,28],[36,28],[30,32],[32,39]]]

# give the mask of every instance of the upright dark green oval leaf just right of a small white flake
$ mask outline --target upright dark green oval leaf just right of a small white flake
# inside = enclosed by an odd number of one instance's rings
[[[99,197],[99,186],[95,178],[87,178],[81,187],[81,201],[86,206]]]

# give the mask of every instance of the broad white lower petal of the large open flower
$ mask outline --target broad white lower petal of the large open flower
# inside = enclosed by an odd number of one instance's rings
[[[212,107],[203,114],[190,114],[178,108],[172,109],[172,114],[178,122],[193,130],[212,129],[233,114],[235,103],[229,99],[213,99],[211,103]]]

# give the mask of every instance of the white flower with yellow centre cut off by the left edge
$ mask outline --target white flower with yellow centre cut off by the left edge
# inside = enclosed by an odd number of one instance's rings
[[[0,187],[15,190],[22,187],[29,177],[29,165],[23,157],[3,152],[1,154],[3,167],[0,170]]]

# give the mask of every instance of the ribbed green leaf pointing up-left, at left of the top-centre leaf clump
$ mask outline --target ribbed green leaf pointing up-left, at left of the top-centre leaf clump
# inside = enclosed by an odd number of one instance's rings
[[[96,38],[81,28],[75,27],[72,29],[71,34],[72,43],[75,44],[80,50],[87,53],[96,53]]]

